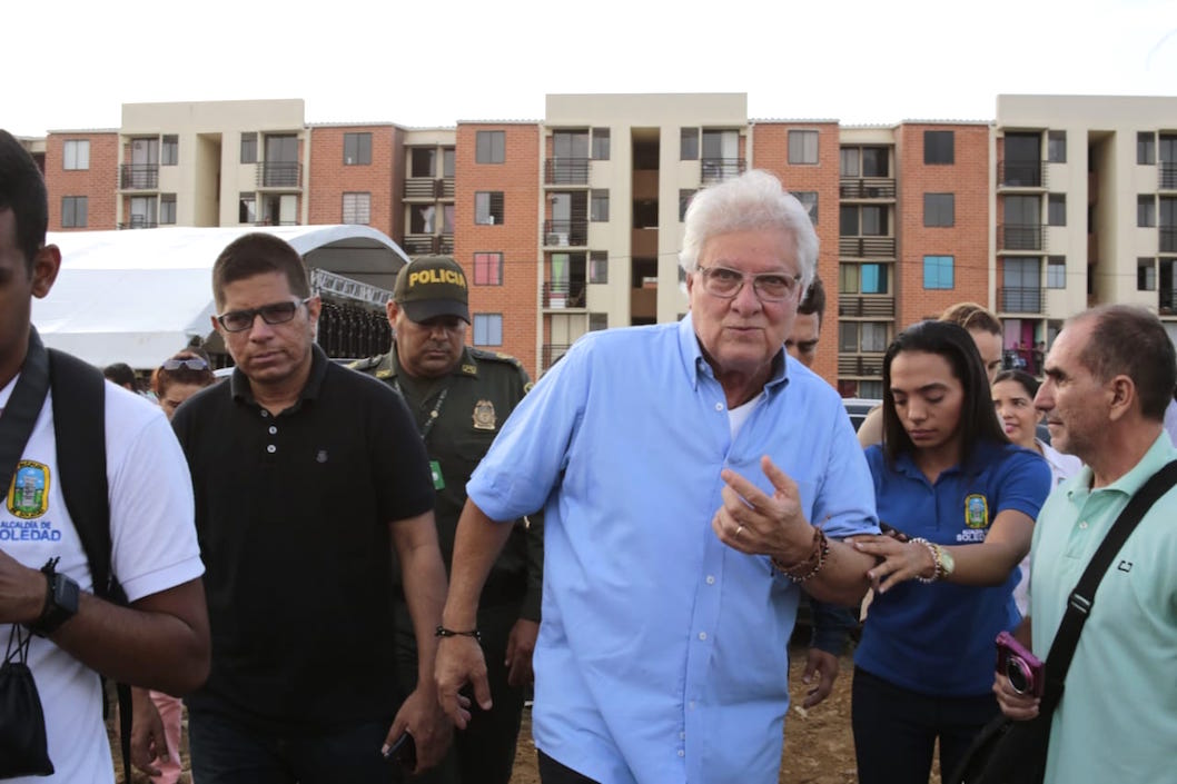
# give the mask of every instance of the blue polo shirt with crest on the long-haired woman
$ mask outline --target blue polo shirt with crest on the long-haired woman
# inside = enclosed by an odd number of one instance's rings
[[[879,520],[942,545],[978,544],[999,512],[1038,516],[1051,487],[1050,465],[1012,444],[982,443],[967,467],[927,481],[910,454],[890,467],[880,446],[866,450]],[[967,697],[993,685],[993,639],[1012,630],[1015,569],[998,586],[902,583],[876,596],[855,664],[903,689]]]

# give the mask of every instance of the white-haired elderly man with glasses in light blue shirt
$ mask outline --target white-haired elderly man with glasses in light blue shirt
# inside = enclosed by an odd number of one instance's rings
[[[511,520],[545,506],[533,727],[545,784],[776,782],[802,587],[856,604],[877,531],[838,394],[783,346],[813,278],[805,210],[765,172],[701,191],[678,324],[579,340],[474,472],[439,695],[485,707],[474,618]]]

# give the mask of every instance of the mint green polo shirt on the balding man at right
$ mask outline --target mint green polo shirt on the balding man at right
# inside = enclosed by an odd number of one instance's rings
[[[1099,490],[1091,469],[1051,493],[1035,525],[1030,616],[1045,656],[1066,600],[1129,498],[1177,458],[1161,432]],[[1048,669],[1050,663],[1046,664]],[[1096,592],[1050,733],[1046,784],[1177,779],[1177,490],[1144,516]]]

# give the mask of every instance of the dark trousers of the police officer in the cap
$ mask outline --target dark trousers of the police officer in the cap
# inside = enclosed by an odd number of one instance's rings
[[[403,603],[397,613],[397,675],[407,696],[417,685],[417,640]],[[471,719],[454,731],[453,746],[437,768],[412,777],[413,784],[510,784],[514,768],[524,690],[507,685],[507,638],[519,618],[518,604],[481,607],[478,630],[483,634],[486,676],[491,686],[490,711],[471,699]],[[467,696],[471,693],[467,692]]]

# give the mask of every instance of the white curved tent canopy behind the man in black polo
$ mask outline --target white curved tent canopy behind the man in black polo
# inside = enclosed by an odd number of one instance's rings
[[[390,292],[408,261],[386,234],[355,225],[51,232],[61,272],[49,295],[33,300],[33,324],[47,346],[93,365],[155,367],[212,332],[213,261],[254,231],[290,242],[312,270]]]

